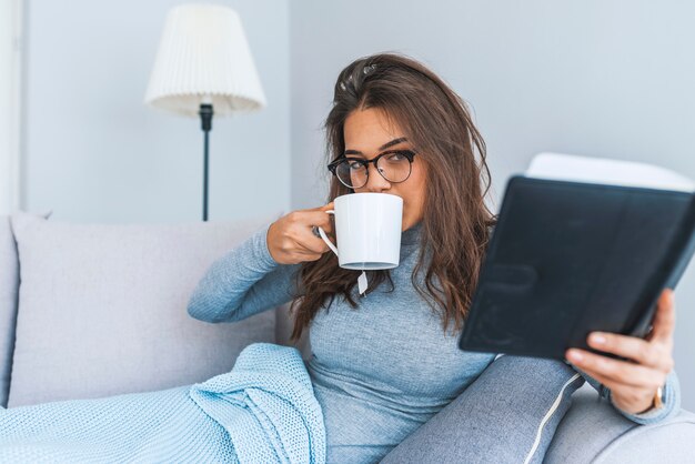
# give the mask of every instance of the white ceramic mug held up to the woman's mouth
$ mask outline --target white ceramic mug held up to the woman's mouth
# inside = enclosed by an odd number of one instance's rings
[[[338,248],[322,228],[323,241],[338,255],[341,268],[393,269],[401,259],[403,199],[391,193],[350,193],[334,200]]]

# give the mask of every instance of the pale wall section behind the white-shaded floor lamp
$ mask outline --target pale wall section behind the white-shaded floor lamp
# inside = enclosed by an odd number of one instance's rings
[[[200,121],[143,104],[179,3],[28,2],[23,209],[84,222],[201,219]],[[213,121],[212,221],[286,210],[290,194],[289,2],[220,3],[241,17],[269,104]]]

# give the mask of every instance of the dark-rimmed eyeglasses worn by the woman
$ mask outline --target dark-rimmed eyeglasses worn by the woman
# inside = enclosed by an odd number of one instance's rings
[[[382,178],[392,183],[404,182],[410,178],[413,170],[412,150],[390,150],[380,153],[373,160],[364,160],[362,158],[340,157],[329,164],[329,171],[350,189],[360,189],[366,185],[370,176],[370,163],[374,163],[374,168]]]

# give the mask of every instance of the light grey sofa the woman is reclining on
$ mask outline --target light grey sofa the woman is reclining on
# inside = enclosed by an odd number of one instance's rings
[[[249,343],[288,344],[286,305],[233,324],[187,313],[212,261],[281,213],[180,224],[78,224],[46,215],[0,216],[3,406],[191,384],[229,371]],[[306,339],[298,347],[309,355]],[[694,414],[636,425],[585,384],[545,462],[694,462]]]

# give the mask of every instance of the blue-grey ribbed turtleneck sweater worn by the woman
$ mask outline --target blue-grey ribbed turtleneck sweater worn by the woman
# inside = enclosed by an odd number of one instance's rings
[[[240,321],[299,293],[293,284],[301,265],[273,260],[269,228],[210,266],[191,296],[191,316]],[[384,282],[360,296],[355,285],[356,309],[336,296],[309,327],[312,355],[306,369],[323,410],[329,463],[377,462],[461,394],[495,357],[461,351],[459,333],[444,333],[441,316],[415,291],[411,274],[421,229],[420,222],[402,233],[401,261],[391,270],[393,292]],[[355,271],[355,280],[357,275]],[[417,280],[422,285],[424,271]],[[676,396],[674,392],[673,385],[667,389],[671,396]],[[675,399],[666,400],[666,408],[657,414],[624,415],[642,423],[659,420],[674,407]]]

